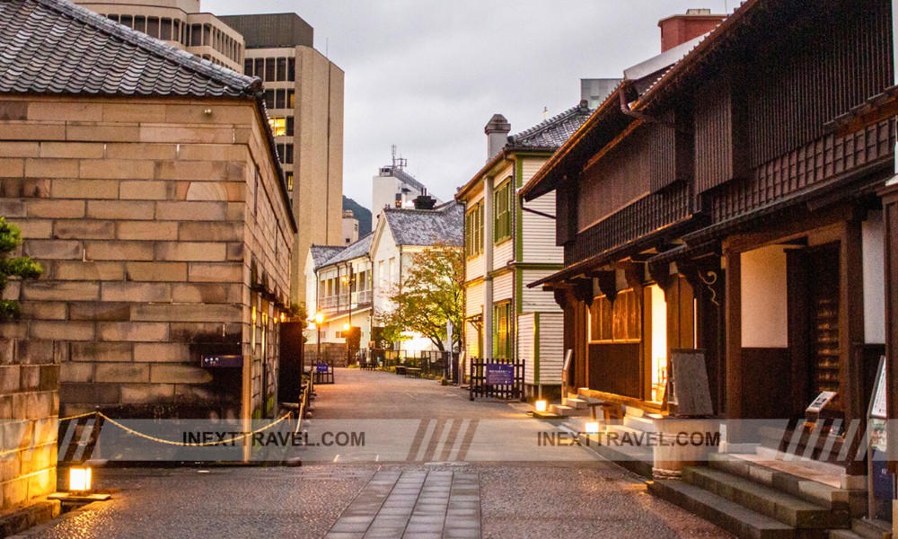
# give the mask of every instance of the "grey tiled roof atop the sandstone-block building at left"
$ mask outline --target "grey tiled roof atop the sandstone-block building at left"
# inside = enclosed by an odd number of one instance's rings
[[[0,92],[236,97],[260,85],[67,0],[0,2]]]

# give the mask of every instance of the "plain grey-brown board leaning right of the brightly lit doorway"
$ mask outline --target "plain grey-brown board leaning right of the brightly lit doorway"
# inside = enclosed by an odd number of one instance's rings
[[[705,350],[670,349],[665,401],[679,417],[714,415]]]

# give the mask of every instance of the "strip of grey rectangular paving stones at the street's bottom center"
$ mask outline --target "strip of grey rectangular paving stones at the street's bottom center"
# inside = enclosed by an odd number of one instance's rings
[[[326,539],[480,537],[477,473],[381,471],[330,528]]]

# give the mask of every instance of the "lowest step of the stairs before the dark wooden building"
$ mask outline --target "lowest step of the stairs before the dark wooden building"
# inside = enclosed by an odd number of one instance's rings
[[[743,539],[797,537],[795,528],[687,482],[676,479],[648,482],[648,490]]]

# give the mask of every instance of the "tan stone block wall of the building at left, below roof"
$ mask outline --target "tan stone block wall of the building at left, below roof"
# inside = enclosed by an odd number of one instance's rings
[[[45,269],[0,336],[50,343],[62,415],[241,413],[240,369],[200,358],[251,357],[252,268],[270,316],[288,293],[294,231],[263,121],[232,99],[0,101],[0,215]]]

